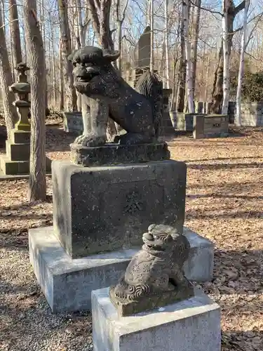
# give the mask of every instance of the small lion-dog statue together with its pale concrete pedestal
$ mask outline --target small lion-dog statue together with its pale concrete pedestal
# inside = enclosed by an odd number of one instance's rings
[[[189,242],[150,225],[116,286],[93,291],[95,351],[220,351],[220,306],[184,277]]]

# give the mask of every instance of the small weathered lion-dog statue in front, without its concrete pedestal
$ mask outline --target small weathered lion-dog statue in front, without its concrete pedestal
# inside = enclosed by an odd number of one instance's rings
[[[142,240],[142,249],[130,261],[119,284],[109,289],[109,298],[121,317],[194,296],[183,272],[190,249],[187,238],[175,227],[150,225]]]

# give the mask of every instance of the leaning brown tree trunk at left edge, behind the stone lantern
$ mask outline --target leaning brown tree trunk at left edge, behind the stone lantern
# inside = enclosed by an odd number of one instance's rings
[[[6,131],[8,138],[10,131],[15,126],[15,121],[18,121],[18,113],[16,112],[13,101],[15,101],[15,94],[9,91],[9,86],[13,84],[12,72],[8,60],[8,51],[6,48],[6,36],[4,33],[3,13],[0,6],[0,87],[2,104],[4,108],[4,117],[6,121]]]

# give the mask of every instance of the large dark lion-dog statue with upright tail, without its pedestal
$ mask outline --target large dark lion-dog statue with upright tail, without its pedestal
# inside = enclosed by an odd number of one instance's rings
[[[104,115],[90,111],[91,124],[88,116],[83,114],[84,133],[76,138],[76,144],[103,145],[106,142],[107,113],[127,131],[119,137],[121,144],[152,143],[158,138],[162,115],[162,83],[156,74],[146,72],[137,82],[135,91],[112,66],[119,55],[95,46],[86,46],[72,55],[76,90],[108,108]],[[87,127],[88,124],[91,128]]]

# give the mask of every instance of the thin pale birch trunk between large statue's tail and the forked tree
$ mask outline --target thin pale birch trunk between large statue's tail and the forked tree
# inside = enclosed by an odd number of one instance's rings
[[[187,101],[189,113],[194,113],[193,71],[191,67],[191,43],[189,39],[189,0],[183,0],[182,20],[184,23],[185,59],[187,62]]]

